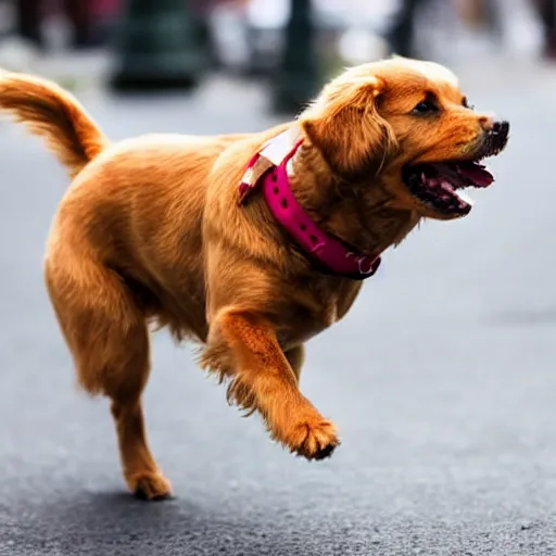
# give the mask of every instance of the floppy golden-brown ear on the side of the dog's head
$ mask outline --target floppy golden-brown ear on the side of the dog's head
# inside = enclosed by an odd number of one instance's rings
[[[344,179],[374,176],[397,148],[378,113],[384,84],[375,76],[332,81],[301,116],[311,142]]]

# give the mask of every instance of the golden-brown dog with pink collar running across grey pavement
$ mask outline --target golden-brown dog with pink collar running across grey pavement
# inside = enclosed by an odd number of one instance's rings
[[[48,80],[4,73],[0,109],[42,136],[72,185],[46,282],[79,384],[111,401],[124,478],[170,494],[146,435],[149,327],[200,344],[228,401],[307,459],[339,444],[301,393],[304,343],[345,316],[380,254],[421,218],[469,213],[507,122],[473,111],[442,65],[345,71],[292,122],[256,134],[111,143]]]

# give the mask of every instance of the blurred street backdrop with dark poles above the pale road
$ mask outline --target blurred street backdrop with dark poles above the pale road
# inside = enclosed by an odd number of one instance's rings
[[[267,79],[293,109],[343,65],[391,52],[552,60],[555,22],[552,0],[0,0],[0,66],[68,87]]]

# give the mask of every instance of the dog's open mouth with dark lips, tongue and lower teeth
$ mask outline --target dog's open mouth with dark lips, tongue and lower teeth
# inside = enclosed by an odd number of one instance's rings
[[[467,214],[472,206],[465,188],[485,188],[494,177],[480,162],[454,161],[406,166],[404,182],[422,203],[445,214]]]

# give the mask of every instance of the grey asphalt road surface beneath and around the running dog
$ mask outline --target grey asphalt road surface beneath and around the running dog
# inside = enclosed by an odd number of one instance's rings
[[[466,78],[511,121],[497,182],[388,253],[309,344],[302,389],[341,430],[334,456],[290,456],[157,333],[147,420],[176,496],[155,504],[126,493],[108,403],[75,388],[47,300],[64,173],[0,122],[0,555],[556,554],[556,74]],[[270,123],[256,88],[222,83],[194,101],[84,101],[115,139]]]

